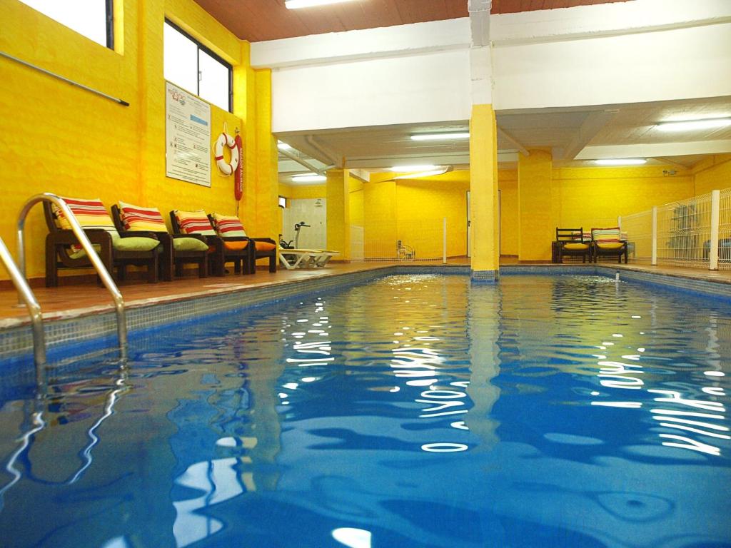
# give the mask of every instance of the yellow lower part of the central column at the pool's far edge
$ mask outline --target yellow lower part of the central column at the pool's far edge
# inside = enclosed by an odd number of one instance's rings
[[[471,271],[473,281],[499,277],[498,149],[495,111],[473,104],[469,121]]]

